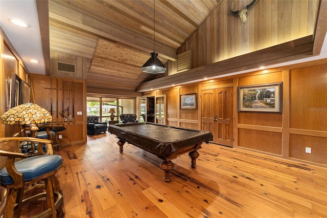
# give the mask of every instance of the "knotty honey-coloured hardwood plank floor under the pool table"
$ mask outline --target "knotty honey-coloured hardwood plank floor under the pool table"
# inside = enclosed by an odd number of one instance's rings
[[[166,183],[159,158],[131,144],[120,154],[116,141],[56,151],[65,217],[326,217],[326,168],[203,144],[197,167],[178,157]]]

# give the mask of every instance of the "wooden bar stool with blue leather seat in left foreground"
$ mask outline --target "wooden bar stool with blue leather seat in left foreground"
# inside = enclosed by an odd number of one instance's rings
[[[32,149],[38,152],[22,154],[20,145],[24,142],[32,146],[38,144],[37,148]],[[51,143],[50,140],[29,137],[0,139],[0,182],[7,189],[3,217],[19,217],[22,205],[44,197],[48,208],[33,217],[56,217],[62,195],[55,190],[55,174],[62,165],[62,157],[53,155]],[[40,181],[44,181],[44,184]],[[31,187],[45,189],[45,192],[24,198],[24,191],[30,192],[33,190]]]

